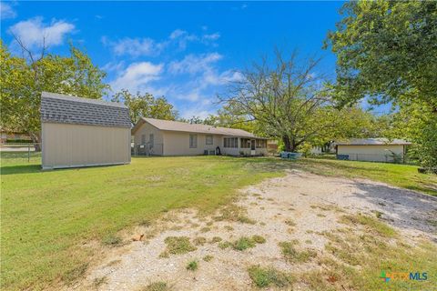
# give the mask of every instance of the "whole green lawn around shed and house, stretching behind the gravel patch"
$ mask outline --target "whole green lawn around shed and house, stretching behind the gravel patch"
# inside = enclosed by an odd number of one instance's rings
[[[84,247],[102,243],[170,209],[208,213],[226,205],[236,190],[300,168],[334,176],[365,177],[437,196],[437,176],[415,166],[350,161],[223,156],[133,158],[127,166],[41,172],[2,154],[2,289],[42,289],[86,270],[95,255]]]

